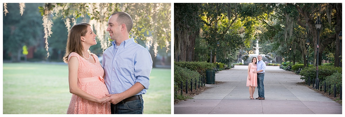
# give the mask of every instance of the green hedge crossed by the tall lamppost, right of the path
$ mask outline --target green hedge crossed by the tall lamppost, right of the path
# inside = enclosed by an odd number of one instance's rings
[[[327,76],[331,76],[333,73],[342,73],[341,67],[335,67],[335,66],[319,66],[319,76],[318,79],[320,81],[324,81]],[[300,79],[307,80],[308,77],[311,79],[316,78],[316,67],[315,66],[309,66],[304,67],[302,71],[299,73],[301,75]]]

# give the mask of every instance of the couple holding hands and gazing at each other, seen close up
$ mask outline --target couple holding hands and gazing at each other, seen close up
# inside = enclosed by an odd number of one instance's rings
[[[89,48],[96,34],[88,23],[74,25],[68,34],[66,54],[69,91],[67,114],[143,114],[142,94],[149,87],[152,58],[148,50],[129,38],[133,21],[116,12],[108,19],[112,41],[102,64]]]

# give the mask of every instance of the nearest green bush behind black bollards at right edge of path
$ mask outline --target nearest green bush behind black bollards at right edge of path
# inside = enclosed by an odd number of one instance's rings
[[[327,76],[326,78],[326,87],[328,88],[328,84],[331,84],[331,89],[327,89],[327,92],[331,92],[334,94],[334,84],[336,86],[336,93],[339,93],[339,88],[342,86],[342,73],[333,73],[331,76]],[[324,86],[325,82],[321,82],[320,85]]]

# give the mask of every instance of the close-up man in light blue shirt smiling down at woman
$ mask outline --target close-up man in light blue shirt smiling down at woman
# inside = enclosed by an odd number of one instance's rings
[[[134,38],[129,38],[133,21],[125,12],[115,12],[108,19],[112,46],[103,53],[102,67],[105,73],[111,114],[143,114],[142,94],[149,87],[152,69],[150,53]]]

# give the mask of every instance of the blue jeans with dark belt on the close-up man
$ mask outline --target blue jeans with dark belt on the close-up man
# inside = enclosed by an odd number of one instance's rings
[[[111,114],[144,114],[144,99],[111,103]]]

